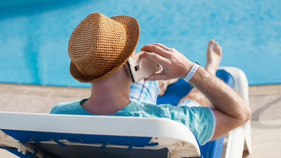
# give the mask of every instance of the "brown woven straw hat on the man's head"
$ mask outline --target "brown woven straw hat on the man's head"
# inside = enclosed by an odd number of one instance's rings
[[[133,17],[90,14],[70,37],[70,74],[86,83],[111,77],[132,55],[139,37],[140,26]]]

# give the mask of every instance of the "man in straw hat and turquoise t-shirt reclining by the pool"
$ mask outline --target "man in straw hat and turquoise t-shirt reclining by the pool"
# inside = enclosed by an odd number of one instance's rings
[[[208,44],[205,70],[176,49],[160,43],[145,45],[141,50],[154,53],[143,53],[141,58],[160,63],[163,70],[131,86],[126,61],[135,51],[139,36],[138,21],[129,16],[107,18],[92,13],[82,20],[69,40],[70,73],[80,82],[91,83],[91,96],[58,104],[51,113],[173,119],[189,127],[200,144],[224,135],[250,118],[250,109],[243,99],[214,76],[222,53],[214,40]],[[171,79],[179,78],[195,88],[178,106],[156,105],[155,98],[160,93],[156,80],[174,82]],[[169,82],[159,83],[165,89]],[[204,107],[210,104],[213,109]]]

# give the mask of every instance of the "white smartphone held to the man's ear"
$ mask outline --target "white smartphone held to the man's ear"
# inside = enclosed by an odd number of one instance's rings
[[[145,79],[157,72],[162,71],[162,66],[149,59],[141,59],[142,52],[134,53],[128,59],[127,64],[129,66],[131,78],[133,82],[138,82],[141,79]]]

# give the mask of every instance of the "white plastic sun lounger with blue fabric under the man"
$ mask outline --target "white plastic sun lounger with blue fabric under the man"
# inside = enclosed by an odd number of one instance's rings
[[[223,69],[217,75],[234,81],[233,88],[248,101],[243,72]],[[180,79],[159,103],[181,99],[183,93],[170,93],[178,86],[191,89]],[[225,158],[241,158],[244,141],[251,152],[250,121],[228,134]],[[168,119],[0,112],[0,148],[22,158],[218,158],[222,145],[223,137],[200,146],[186,126]]]

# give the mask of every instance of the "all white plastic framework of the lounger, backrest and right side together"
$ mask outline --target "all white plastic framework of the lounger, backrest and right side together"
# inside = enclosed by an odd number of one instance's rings
[[[233,76],[234,89],[248,103],[248,81],[241,69],[235,67],[220,67]],[[50,115],[29,113],[0,112],[0,129],[34,131],[62,134],[81,134],[118,137],[149,138],[143,146],[116,145],[111,143],[81,143],[68,140],[40,141],[37,143],[50,145],[75,145],[105,148],[128,149],[167,149],[167,157],[199,157],[200,148],[192,132],[183,124],[169,119],[158,118],[129,118],[129,117],[106,117],[106,116],[73,116],[73,115]],[[0,147],[17,148],[25,154],[27,151],[37,153],[40,158],[46,158],[44,151],[40,151],[36,145],[36,139],[31,138],[29,143],[22,143],[18,139],[11,138],[0,131]],[[33,142],[33,143],[32,143]],[[59,144],[59,145],[58,145]],[[154,144],[154,145],[151,145]],[[244,146],[245,144],[245,146]],[[39,147],[39,146],[38,146]],[[242,158],[244,148],[249,153],[251,146],[250,120],[243,126],[228,133],[225,158]],[[61,149],[61,148],[60,148]]]

